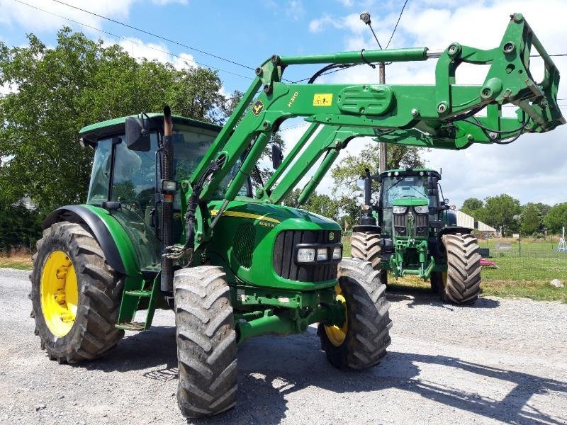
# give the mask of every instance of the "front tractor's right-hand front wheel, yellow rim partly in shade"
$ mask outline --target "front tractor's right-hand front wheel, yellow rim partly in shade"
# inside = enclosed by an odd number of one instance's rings
[[[336,368],[369,368],[386,356],[391,343],[386,285],[371,263],[359,259],[343,259],[338,276],[337,299],[346,305],[347,322],[342,327],[320,323],[321,348]]]

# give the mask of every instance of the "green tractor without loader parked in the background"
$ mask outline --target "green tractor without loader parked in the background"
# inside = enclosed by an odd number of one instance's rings
[[[471,304],[481,291],[481,254],[473,229],[460,227],[441,175],[431,169],[395,169],[371,176],[366,169],[364,208],[352,229],[352,257],[370,261],[388,282],[407,275],[429,279],[447,302]],[[372,183],[380,185],[372,200]]]

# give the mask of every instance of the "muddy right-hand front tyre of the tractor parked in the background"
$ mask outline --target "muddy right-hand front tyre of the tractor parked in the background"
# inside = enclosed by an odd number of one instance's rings
[[[481,292],[481,254],[472,234],[444,234],[447,252],[447,278],[442,296],[454,304],[472,304]]]

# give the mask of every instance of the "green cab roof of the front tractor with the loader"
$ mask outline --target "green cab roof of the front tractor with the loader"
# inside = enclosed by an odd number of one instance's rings
[[[148,113],[150,118],[156,118],[150,121],[150,129],[156,130],[157,128],[163,128],[163,121],[160,118],[164,117],[163,113]],[[141,118],[142,115],[130,115],[132,117]],[[96,145],[97,140],[111,135],[118,135],[125,132],[126,118],[113,118],[111,120],[101,121],[100,123],[94,123],[87,125],[79,130],[79,136],[81,136],[86,142],[91,145]],[[185,118],[181,115],[172,115],[172,120],[175,124],[189,125],[190,127],[204,128],[206,130],[211,130],[214,132],[220,132],[223,128],[220,125],[215,125],[211,123],[205,123],[203,121],[191,120],[191,118]]]

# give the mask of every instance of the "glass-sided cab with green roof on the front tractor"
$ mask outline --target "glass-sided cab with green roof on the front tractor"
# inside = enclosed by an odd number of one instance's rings
[[[89,125],[80,131],[82,145],[95,151],[87,205],[105,208],[128,232],[142,271],[160,268],[159,229],[162,227],[159,203],[162,202],[161,167],[164,164],[163,114],[147,115],[145,143],[133,143],[126,137],[128,117]],[[196,169],[215,140],[221,127],[181,116],[173,116],[172,181],[176,181],[173,197],[172,240],[181,239],[181,179]],[[222,199],[233,173],[218,187],[215,198]],[[248,180],[239,195],[251,196]]]

